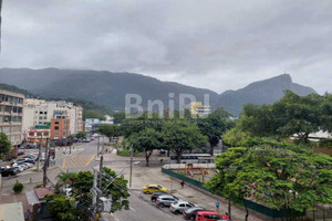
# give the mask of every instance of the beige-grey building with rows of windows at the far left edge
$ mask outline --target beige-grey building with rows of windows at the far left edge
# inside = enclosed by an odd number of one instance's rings
[[[4,133],[13,147],[22,141],[24,95],[0,90],[0,133]]]

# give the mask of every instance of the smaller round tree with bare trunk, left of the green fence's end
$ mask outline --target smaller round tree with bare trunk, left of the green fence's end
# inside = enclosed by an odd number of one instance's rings
[[[158,131],[153,128],[146,128],[129,137],[129,143],[134,150],[144,152],[146,167],[148,167],[149,157],[154,149],[162,147],[162,137]]]

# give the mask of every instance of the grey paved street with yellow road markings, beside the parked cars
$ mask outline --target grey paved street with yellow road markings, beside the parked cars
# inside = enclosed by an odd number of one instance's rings
[[[29,149],[27,154],[37,152],[37,149]],[[56,147],[55,152],[55,167],[49,168],[48,177],[53,183],[56,182],[56,176],[62,171],[84,171],[98,169],[100,161],[96,157],[97,152],[97,141],[92,143],[77,143],[71,150],[69,147]],[[169,178],[168,176],[160,172],[160,165],[157,165],[158,157],[152,157],[155,160],[155,165],[152,167],[144,167],[144,159],[142,157],[134,157],[133,165],[133,176],[132,176],[132,187],[129,187],[131,198],[131,209],[117,211],[114,214],[104,213],[103,218],[112,221],[141,221],[141,220],[184,220],[181,214],[174,214],[168,208],[158,208],[151,202],[147,194],[142,193],[142,188],[145,185],[158,183],[166,187],[168,191],[178,198],[189,201],[194,204],[204,207],[208,210],[215,210],[216,199],[207,196],[200,191],[193,189],[189,186],[180,188],[178,181]],[[116,171],[118,176],[124,176],[125,179],[129,180],[129,158],[121,157],[116,155],[116,151],[112,154],[104,155],[104,166]],[[41,164],[42,167],[42,164]],[[34,167],[35,168],[35,167]],[[10,189],[12,185],[17,181],[32,183],[42,181],[42,172],[35,172],[32,169],[23,171],[15,177],[6,178],[3,180],[3,186],[6,189]],[[6,192],[2,199],[6,198]],[[6,198],[7,199],[7,198]],[[227,211],[227,203],[220,202],[221,214]],[[232,207],[232,220],[243,220],[245,212],[237,207]],[[250,221],[260,221],[253,215],[249,217]]]

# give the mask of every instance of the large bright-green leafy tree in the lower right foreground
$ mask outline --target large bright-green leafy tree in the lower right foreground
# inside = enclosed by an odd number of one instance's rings
[[[303,146],[267,143],[229,148],[216,165],[219,173],[208,188],[236,203],[255,198],[283,210],[284,220],[297,220],[297,212],[332,202],[332,158]]]

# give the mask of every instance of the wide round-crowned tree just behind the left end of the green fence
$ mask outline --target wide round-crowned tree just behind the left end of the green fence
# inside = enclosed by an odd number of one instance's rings
[[[178,164],[185,150],[203,146],[207,140],[207,137],[200,134],[196,125],[176,120],[174,120],[173,124],[164,125],[162,137],[164,139],[164,146],[176,154]]]

